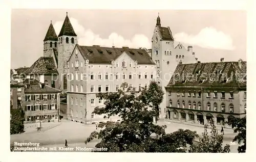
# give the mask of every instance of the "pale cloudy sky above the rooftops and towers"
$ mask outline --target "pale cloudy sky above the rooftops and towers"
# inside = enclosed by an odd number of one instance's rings
[[[152,48],[159,13],[175,45],[192,45],[199,61],[246,61],[245,11],[12,9],[11,68],[30,67],[43,56],[51,20],[58,35],[66,12],[79,45]]]

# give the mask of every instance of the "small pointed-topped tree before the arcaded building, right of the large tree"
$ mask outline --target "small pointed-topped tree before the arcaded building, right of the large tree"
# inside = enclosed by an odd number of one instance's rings
[[[226,144],[224,148],[222,147],[224,132],[218,134],[218,129],[213,120],[210,120],[210,126],[210,137],[207,132],[207,124],[205,124],[202,137],[199,137],[199,143],[190,145],[189,152],[228,153],[230,151],[229,145]]]

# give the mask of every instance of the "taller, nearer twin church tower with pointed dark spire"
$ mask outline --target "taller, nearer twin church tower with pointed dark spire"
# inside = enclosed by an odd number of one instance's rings
[[[77,44],[77,35],[69,20],[68,12],[63,22],[62,28],[58,35],[58,72],[59,72],[59,89],[67,90],[67,69],[72,51]]]

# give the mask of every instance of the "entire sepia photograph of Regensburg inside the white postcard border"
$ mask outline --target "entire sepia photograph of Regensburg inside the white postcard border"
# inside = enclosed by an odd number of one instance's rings
[[[30,8],[10,23],[10,152],[247,152],[246,11]]]

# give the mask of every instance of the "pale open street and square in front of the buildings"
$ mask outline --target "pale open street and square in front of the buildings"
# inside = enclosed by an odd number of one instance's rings
[[[197,126],[184,125],[180,123],[158,121],[159,125],[166,125],[166,133],[181,129],[190,129],[202,134],[204,128]],[[11,135],[11,145],[14,142],[18,143],[39,143],[40,147],[62,147],[65,146],[65,140],[68,141],[69,147],[94,147],[98,140],[95,139],[87,145],[84,141],[90,136],[92,131],[95,131],[95,125],[84,125],[76,122],[61,122],[61,123],[42,123],[42,130],[36,131],[36,128],[26,128],[22,134]],[[45,128],[45,129],[44,129]],[[234,133],[227,131],[224,134],[223,145],[229,144],[233,140]],[[238,145],[230,145],[230,152],[237,152]]]

